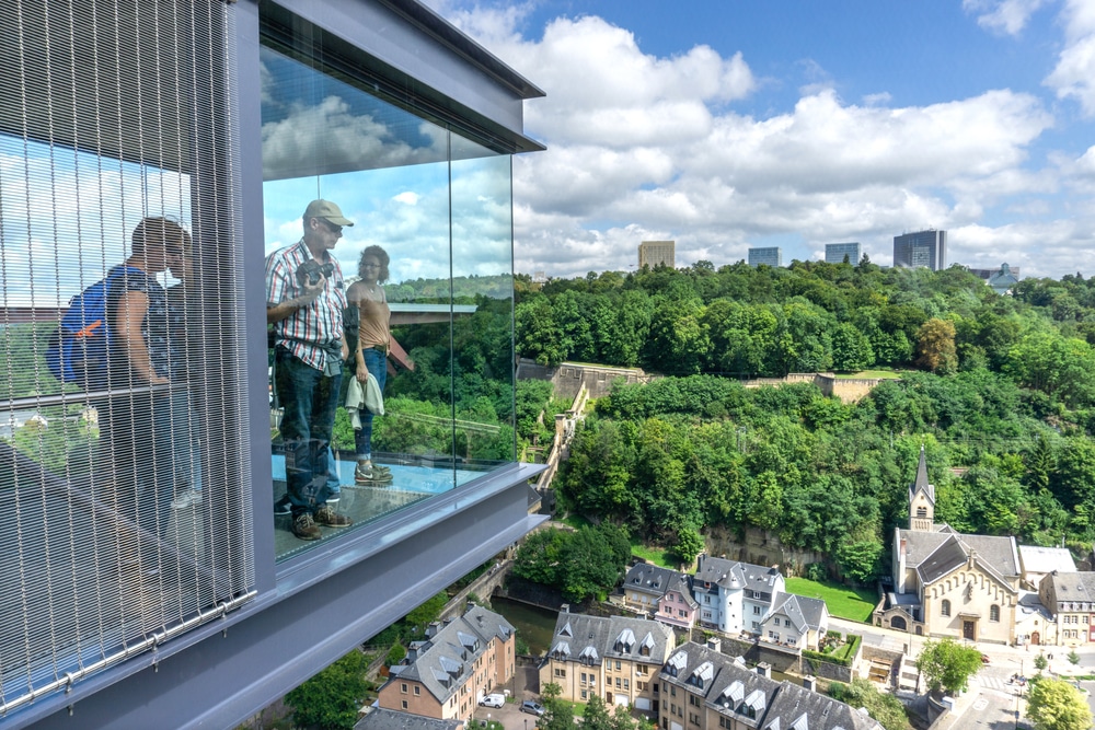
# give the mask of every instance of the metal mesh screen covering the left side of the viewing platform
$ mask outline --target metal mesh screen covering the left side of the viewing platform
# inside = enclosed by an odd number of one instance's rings
[[[0,3],[0,718],[251,595],[231,22]],[[106,375],[62,384],[107,277]]]

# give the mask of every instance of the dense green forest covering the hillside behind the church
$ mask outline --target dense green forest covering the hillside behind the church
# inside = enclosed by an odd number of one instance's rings
[[[937,521],[1095,537],[1095,280],[1000,296],[957,266],[700,262],[517,291],[520,355],[671,375],[596,404],[556,482],[568,509],[685,558],[712,525],[757,526],[865,581],[906,524],[924,447]],[[900,378],[855,404],[739,381],[871,367]]]

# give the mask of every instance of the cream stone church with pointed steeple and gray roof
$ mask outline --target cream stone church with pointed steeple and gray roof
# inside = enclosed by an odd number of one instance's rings
[[[894,590],[876,626],[917,635],[1010,644],[1019,590],[1014,537],[967,535],[936,524],[923,448],[909,489],[909,529],[894,532]]]

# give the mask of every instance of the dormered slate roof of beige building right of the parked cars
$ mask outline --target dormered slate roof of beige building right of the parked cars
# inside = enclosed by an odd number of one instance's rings
[[[656,621],[629,616],[587,616],[560,612],[548,657],[556,661],[600,664],[627,659],[660,665],[673,646],[671,628]]]

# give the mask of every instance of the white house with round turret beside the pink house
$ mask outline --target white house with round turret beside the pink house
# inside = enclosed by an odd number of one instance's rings
[[[700,609],[700,625],[726,634],[758,635],[784,579],[777,568],[700,555],[692,579],[692,595]]]

